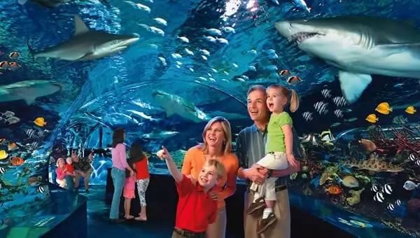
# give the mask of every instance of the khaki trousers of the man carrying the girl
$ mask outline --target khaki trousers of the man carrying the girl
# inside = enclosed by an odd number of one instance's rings
[[[273,213],[278,219],[272,228],[267,229],[263,234],[257,234],[257,225],[262,216],[246,214],[246,209],[253,201],[253,193],[245,193],[244,207],[244,233],[245,238],[290,238],[290,204],[288,190],[281,190],[276,193],[277,200],[273,207]]]

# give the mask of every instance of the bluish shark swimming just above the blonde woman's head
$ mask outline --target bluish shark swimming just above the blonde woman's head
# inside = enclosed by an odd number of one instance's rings
[[[165,109],[167,117],[177,114],[183,118],[193,120],[195,123],[209,120],[203,111],[197,109],[197,106],[182,97],[161,90],[155,90],[152,93],[152,97],[155,102]]]

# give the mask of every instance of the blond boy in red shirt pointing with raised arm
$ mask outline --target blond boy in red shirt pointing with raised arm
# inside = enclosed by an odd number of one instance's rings
[[[172,238],[206,237],[207,227],[216,221],[217,216],[217,201],[212,200],[208,193],[223,178],[225,167],[218,160],[207,160],[195,182],[179,172],[165,147],[162,146],[157,155],[161,159],[166,159],[179,195]]]

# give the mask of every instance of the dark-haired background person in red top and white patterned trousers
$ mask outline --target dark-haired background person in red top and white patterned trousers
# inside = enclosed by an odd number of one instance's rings
[[[148,171],[148,158],[144,155],[141,145],[134,142],[130,148],[130,160],[134,162],[136,169],[137,193],[139,193],[140,213],[136,221],[147,221],[146,214],[146,190],[148,188],[151,175]]]

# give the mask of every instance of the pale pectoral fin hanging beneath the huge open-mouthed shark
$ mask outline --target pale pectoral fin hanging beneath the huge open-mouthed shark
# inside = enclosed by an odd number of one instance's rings
[[[363,73],[339,71],[338,78],[343,96],[349,104],[356,102],[367,85],[372,82],[372,76]]]

